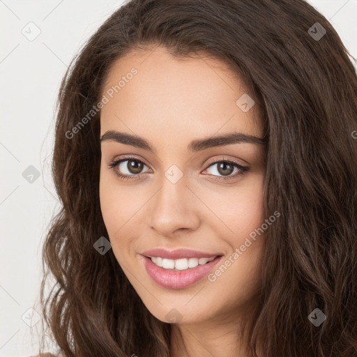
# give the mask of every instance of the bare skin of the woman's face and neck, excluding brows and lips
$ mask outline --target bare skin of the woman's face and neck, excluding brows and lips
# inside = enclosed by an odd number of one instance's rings
[[[225,261],[261,227],[264,146],[236,143],[188,151],[193,139],[231,130],[263,137],[257,105],[248,112],[236,105],[248,87],[225,63],[207,56],[174,59],[163,47],[130,52],[116,61],[102,94],[132,67],[137,75],[101,110],[100,135],[107,130],[139,135],[156,153],[109,140],[101,144],[100,205],[114,255],[151,314],[167,322],[168,312],[179,312],[181,321],[173,325],[173,357],[248,356],[245,342],[237,340],[238,322],[249,319],[257,305],[264,234],[215,282],[203,278],[184,289],[156,284],[139,252],[190,248],[221,252]],[[142,160],[147,174],[137,181],[116,176],[108,164],[123,155]],[[223,181],[218,164],[207,163],[224,158],[250,170]],[[121,164],[121,173],[135,175],[127,163]],[[183,173],[177,183],[165,177],[172,165]]]

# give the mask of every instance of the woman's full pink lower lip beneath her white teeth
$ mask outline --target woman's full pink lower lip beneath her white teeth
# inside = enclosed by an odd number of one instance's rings
[[[215,257],[215,259],[206,264],[196,266],[195,268],[188,268],[184,271],[161,268],[147,257],[144,257],[144,266],[151,278],[160,286],[168,289],[183,289],[204,278],[204,276],[213,270],[213,267],[221,258],[222,256]]]

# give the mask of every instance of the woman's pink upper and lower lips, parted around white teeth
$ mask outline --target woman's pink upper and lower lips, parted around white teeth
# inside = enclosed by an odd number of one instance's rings
[[[144,266],[151,278],[160,286],[168,289],[183,289],[189,287],[195,282],[198,282],[206,276],[213,267],[218,264],[222,258],[222,253],[206,253],[197,250],[177,249],[165,250],[162,248],[155,248],[142,252],[141,255],[144,259]],[[173,269],[165,269],[151,261],[151,257],[161,257],[166,259],[181,259],[181,258],[211,258],[215,257],[212,261],[206,264],[196,266],[195,268],[188,268],[184,271],[174,271]]]

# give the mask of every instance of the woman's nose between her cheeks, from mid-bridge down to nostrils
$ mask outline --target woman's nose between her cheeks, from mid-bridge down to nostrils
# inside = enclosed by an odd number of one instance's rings
[[[151,229],[165,237],[172,237],[176,231],[182,229],[197,229],[202,203],[188,187],[186,176],[182,176],[176,183],[163,176],[160,183],[161,187],[148,207]]]

